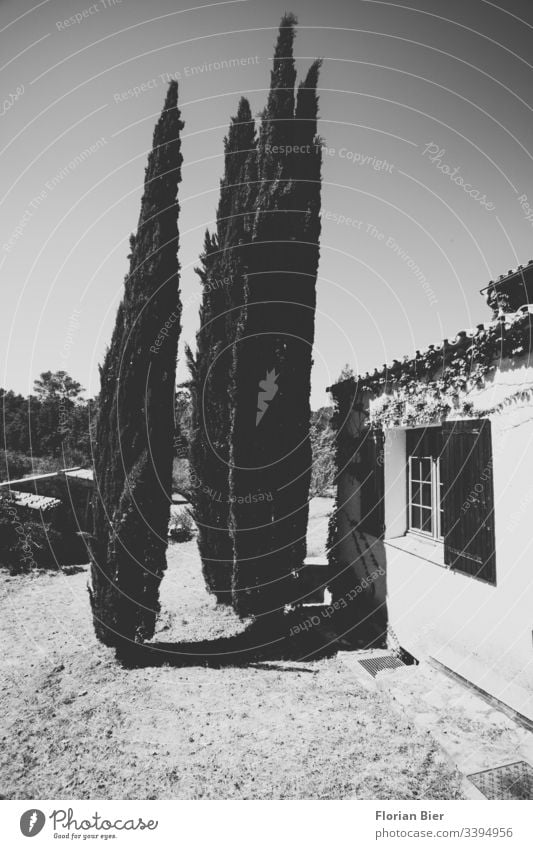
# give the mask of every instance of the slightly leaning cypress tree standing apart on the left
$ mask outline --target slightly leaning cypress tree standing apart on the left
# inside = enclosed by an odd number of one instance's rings
[[[171,82],[145,171],[130,271],[100,369],[90,590],[97,637],[149,639],[159,611],[173,456],[180,334],[178,85]]]

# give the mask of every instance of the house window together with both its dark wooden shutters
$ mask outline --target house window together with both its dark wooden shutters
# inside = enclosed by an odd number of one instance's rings
[[[369,429],[358,454],[361,528],[383,536],[388,462],[383,434]],[[400,462],[406,463],[407,472],[407,516],[401,532],[407,526],[409,535],[419,540],[443,543],[442,559],[448,568],[496,584],[490,420],[408,430],[406,456],[402,454]],[[403,493],[405,503],[405,489]]]

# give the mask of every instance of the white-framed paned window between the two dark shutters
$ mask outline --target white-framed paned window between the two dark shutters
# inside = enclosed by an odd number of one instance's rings
[[[408,521],[414,533],[442,540],[443,510],[440,428],[418,428],[407,432]]]

